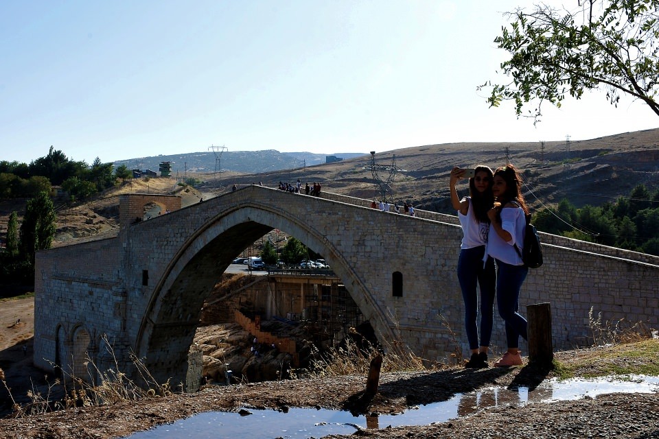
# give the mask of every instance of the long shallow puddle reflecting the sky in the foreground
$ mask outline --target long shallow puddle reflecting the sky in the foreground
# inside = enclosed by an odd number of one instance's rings
[[[448,401],[432,403],[403,414],[352,416],[349,412],[291,408],[288,413],[252,410],[238,413],[207,412],[127,436],[130,439],[170,438],[319,438],[329,434],[353,434],[358,429],[428,425],[466,416],[487,407],[568,401],[606,393],[659,392],[659,377],[632,376],[619,379],[571,379],[543,381],[537,388],[482,388],[456,394]]]

